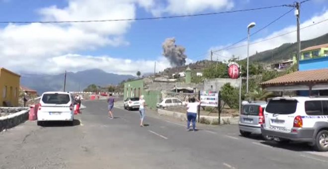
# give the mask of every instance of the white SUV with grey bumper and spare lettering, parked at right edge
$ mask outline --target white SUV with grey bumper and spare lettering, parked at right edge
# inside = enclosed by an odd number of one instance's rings
[[[275,97],[264,110],[262,135],[277,142],[308,142],[328,151],[328,97]]]

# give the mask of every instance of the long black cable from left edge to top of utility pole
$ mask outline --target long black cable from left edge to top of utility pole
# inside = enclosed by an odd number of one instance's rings
[[[245,12],[245,11],[270,9],[270,8],[285,7],[285,6],[288,6],[288,5],[287,4],[282,4],[282,5],[266,6],[266,7],[258,7],[258,8],[229,10],[229,11],[223,11],[223,12],[187,14],[187,15],[172,15],[172,16],[160,16],[160,17],[129,18],[129,19],[66,20],[66,21],[0,21],[0,23],[87,23],[87,22],[115,22],[115,21],[155,20],[155,19],[170,19],[170,18],[181,18],[181,17],[216,15],[216,14],[234,13],[234,12]]]

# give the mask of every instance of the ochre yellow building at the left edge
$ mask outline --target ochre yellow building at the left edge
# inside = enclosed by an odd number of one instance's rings
[[[18,106],[20,76],[6,69],[0,69],[0,106],[3,101],[9,101]]]

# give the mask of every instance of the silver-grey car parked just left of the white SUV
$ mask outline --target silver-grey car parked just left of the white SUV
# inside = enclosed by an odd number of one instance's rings
[[[253,101],[243,105],[239,120],[239,131],[242,136],[247,137],[251,133],[261,134],[265,107],[265,101]],[[265,136],[264,139],[270,140],[271,138]]]

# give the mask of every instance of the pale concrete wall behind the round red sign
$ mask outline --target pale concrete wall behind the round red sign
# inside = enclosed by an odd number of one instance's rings
[[[240,79],[217,78],[204,81],[204,90],[219,91],[224,84],[230,83],[233,87],[240,86]]]

